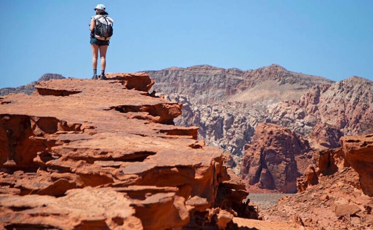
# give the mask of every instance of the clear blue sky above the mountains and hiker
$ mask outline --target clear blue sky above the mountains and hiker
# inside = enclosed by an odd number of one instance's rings
[[[13,0],[1,1],[0,88],[44,73],[90,78],[88,23],[99,3],[115,21],[106,72],[276,63],[373,80],[372,0]]]

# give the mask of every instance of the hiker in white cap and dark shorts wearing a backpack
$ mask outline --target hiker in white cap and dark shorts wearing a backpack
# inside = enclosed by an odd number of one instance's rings
[[[94,8],[96,14],[91,17],[90,30],[91,30],[91,50],[92,50],[92,67],[93,67],[93,77],[92,79],[107,80],[105,76],[106,67],[106,51],[109,46],[109,39],[112,35],[113,19],[111,19],[105,11],[105,6],[103,4],[98,4]],[[109,24],[109,26],[103,24]],[[97,26],[101,26],[97,28]],[[107,34],[107,30],[111,28],[111,34]],[[103,31],[104,30],[104,31]],[[106,33],[105,33],[106,32]],[[103,33],[105,35],[103,35]],[[100,60],[101,60],[101,74],[97,77],[97,58],[98,50],[100,50]]]

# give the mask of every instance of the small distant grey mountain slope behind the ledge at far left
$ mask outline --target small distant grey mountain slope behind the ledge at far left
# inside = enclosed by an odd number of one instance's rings
[[[0,89],[0,96],[7,95],[7,94],[32,94],[35,91],[34,86],[38,84],[38,82],[44,82],[44,81],[49,81],[50,79],[65,79],[64,76],[60,74],[55,74],[55,73],[45,73],[43,76],[41,76],[38,81],[33,81],[30,82],[27,85],[22,85],[17,88],[1,88]]]

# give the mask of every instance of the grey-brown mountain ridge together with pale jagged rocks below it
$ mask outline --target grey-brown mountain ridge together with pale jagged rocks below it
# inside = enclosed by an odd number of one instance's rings
[[[176,124],[199,126],[198,138],[232,154],[236,173],[254,128],[272,122],[266,112],[269,105],[298,100],[314,85],[333,83],[277,64],[247,71],[200,65],[147,72],[156,79],[157,92],[186,105]]]

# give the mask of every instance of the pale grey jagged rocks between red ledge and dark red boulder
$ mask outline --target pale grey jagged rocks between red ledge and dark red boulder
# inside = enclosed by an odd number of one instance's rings
[[[251,143],[254,127],[265,121],[265,116],[258,110],[248,111],[243,103],[226,105],[191,106],[188,97],[170,94],[165,98],[183,104],[182,116],[175,119],[180,126],[199,126],[198,138],[211,146],[218,146],[222,151],[231,154],[229,164],[239,174],[242,147]]]

